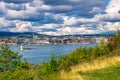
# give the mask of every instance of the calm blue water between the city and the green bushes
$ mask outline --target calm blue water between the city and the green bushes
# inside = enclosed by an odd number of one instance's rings
[[[18,51],[22,55],[22,60],[26,59],[32,64],[48,61],[52,54],[56,56],[68,54],[80,46],[95,46],[92,44],[59,44],[59,45],[39,45],[39,46],[23,46],[24,48],[31,48],[20,52],[20,46],[10,46],[13,51]]]

